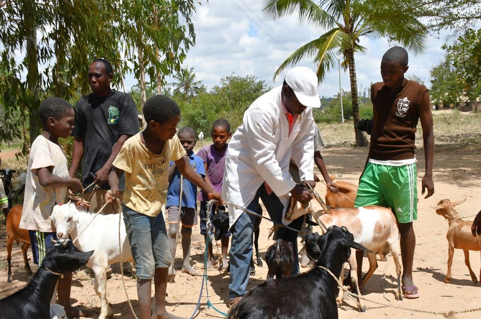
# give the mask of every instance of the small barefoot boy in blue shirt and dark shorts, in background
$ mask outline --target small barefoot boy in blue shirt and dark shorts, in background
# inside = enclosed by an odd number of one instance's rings
[[[192,151],[194,149],[196,139],[195,132],[192,127],[184,126],[177,133],[178,139],[182,144],[182,147],[186,150],[187,157],[192,169],[201,177],[205,177],[204,162],[202,158],[194,155]],[[182,252],[184,257],[184,265],[182,272],[188,273],[191,276],[197,275],[197,272],[190,265],[190,244],[192,236],[192,226],[197,225],[197,186],[183,179],[182,182],[182,208],[179,211],[179,196],[181,193],[181,173],[175,166],[175,162],[170,161],[169,169],[169,190],[167,193],[167,207],[169,212],[169,235],[170,235],[170,254],[172,256],[172,264],[169,267],[169,276],[175,274],[174,262],[175,262],[175,248],[176,237],[179,228],[179,215],[182,220]]]

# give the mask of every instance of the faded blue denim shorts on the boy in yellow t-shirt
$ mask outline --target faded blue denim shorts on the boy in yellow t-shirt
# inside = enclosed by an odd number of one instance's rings
[[[167,268],[172,262],[164,216],[147,216],[125,205],[122,210],[136,275],[140,279],[154,278],[156,268]]]

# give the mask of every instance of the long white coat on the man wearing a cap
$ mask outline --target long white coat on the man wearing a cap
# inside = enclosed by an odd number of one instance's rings
[[[289,192],[295,186],[289,174],[291,158],[299,168],[301,180],[314,179],[312,109],[307,108],[297,117],[288,136],[281,89],[282,86],[276,87],[252,103],[229,142],[222,184],[222,197],[229,203],[247,207],[266,181],[287,207]],[[231,206],[228,210],[231,227],[243,211]]]

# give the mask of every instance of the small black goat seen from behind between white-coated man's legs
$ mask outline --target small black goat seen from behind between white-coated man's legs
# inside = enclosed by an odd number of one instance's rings
[[[269,270],[267,278],[289,278],[294,263],[292,242],[278,238],[265,252],[265,262]]]

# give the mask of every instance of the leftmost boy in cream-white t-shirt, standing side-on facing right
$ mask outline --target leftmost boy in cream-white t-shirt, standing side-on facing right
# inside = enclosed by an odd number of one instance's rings
[[[68,178],[67,158],[58,145],[58,138],[68,138],[74,128],[72,105],[59,98],[47,98],[40,104],[39,115],[43,131],[32,143],[28,155],[20,228],[28,230],[34,263],[41,267],[47,248],[52,245],[50,238],[57,239],[49,219],[53,206],[64,201],[67,188],[82,190],[82,183],[77,178]],[[70,308],[71,280],[69,273],[58,281],[58,303],[65,307],[69,317],[84,314]]]

